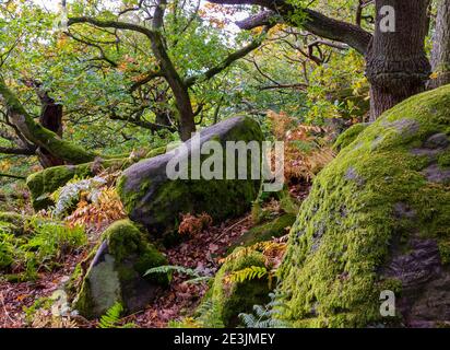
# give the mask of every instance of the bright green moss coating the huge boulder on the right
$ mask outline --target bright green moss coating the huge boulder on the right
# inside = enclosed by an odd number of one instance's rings
[[[416,234],[450,237],[449,188],[424,175],[433,159],[412,152],[433,135],[449,135],[448,110],[450,86],[414,96],[366,128],[317,176],[280,269],[283,318],[299,327],[383,322],[380,270],[390,243]]]

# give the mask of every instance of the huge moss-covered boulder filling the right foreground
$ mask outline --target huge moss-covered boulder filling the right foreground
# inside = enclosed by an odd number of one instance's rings
[[[281,268],[294,326],[450,322],[450,86],[365,129],[315,179]],[[380,292],[396,316],[380,315]],[[396,324],[399,325],[399,324]]]

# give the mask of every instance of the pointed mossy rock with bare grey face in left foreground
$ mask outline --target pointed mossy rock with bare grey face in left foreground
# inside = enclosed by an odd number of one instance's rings
[[[126,313],[137,312],[168,285],[168,275],[144,277],[147,269],[163,265],[165,256],[131,221],[117,221],[104,232],[73,306],[87,318],[104,315],[117,302]]]

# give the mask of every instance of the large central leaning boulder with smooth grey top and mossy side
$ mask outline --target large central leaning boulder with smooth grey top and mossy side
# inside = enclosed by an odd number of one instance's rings
[[[200,136],[200,147],[209,140],[220,141],[222,145],[226,141],[262,140],[258,122],[249,117],[224,120],[202,130]],[[189,160],[191,144],[192,140],[186,142]],[[208,212],[215,221],[239,215],[250,208],[258,195],[259,179],[169,179],[166,166],[175,155],[174,151],[141,161],[126,170],[118,183],[118,191],[129,217],[156,236],[171,233],[180,213]],[[247,163],[251,166],[251,154],[247,156]],[[238,160],[235,161],[237,167]]]

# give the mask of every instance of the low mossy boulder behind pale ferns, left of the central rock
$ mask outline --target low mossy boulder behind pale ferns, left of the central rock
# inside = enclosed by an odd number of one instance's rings
[[[50,195],[75,176],[92,177],[95,176],[98,167],[120,167],[127,162],[129,162],[128,159],[98,160],[79,165],[54,166],[32,174],[26,179],[26,186],[32,195],[33,208],[42,210],[55,205]]]

